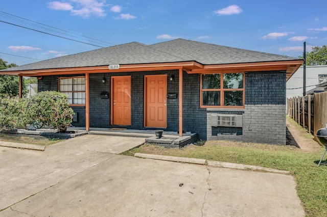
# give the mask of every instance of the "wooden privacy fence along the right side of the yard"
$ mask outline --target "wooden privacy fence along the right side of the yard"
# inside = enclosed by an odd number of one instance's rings
[[[287,114],[315,135],[327,124],[327,92],[287,99]]]

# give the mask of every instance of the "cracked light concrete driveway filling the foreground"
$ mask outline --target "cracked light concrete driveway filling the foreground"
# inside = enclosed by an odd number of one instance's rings
[[[115,154],[143,142],[84,135],[44,152],[0,147],[0,216],[304,215],[290,175]]]

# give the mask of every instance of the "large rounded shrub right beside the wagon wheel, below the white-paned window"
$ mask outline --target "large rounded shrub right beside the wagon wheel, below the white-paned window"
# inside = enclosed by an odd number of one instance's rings
[[[74,111],[69,107],[67,95],[56,91],[43,91],[27,99],[27,119],[53,126],[65,132],[72,124]]]

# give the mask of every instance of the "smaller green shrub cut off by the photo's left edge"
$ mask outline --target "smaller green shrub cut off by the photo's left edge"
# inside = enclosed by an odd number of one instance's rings
[[[0,130],[25,127],[26,99],[1,99]]]

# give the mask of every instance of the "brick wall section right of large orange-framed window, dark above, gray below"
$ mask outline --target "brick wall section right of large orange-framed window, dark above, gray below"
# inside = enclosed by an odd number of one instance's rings
[[[286,72],[248,72],[243,141],[286,144]]]

